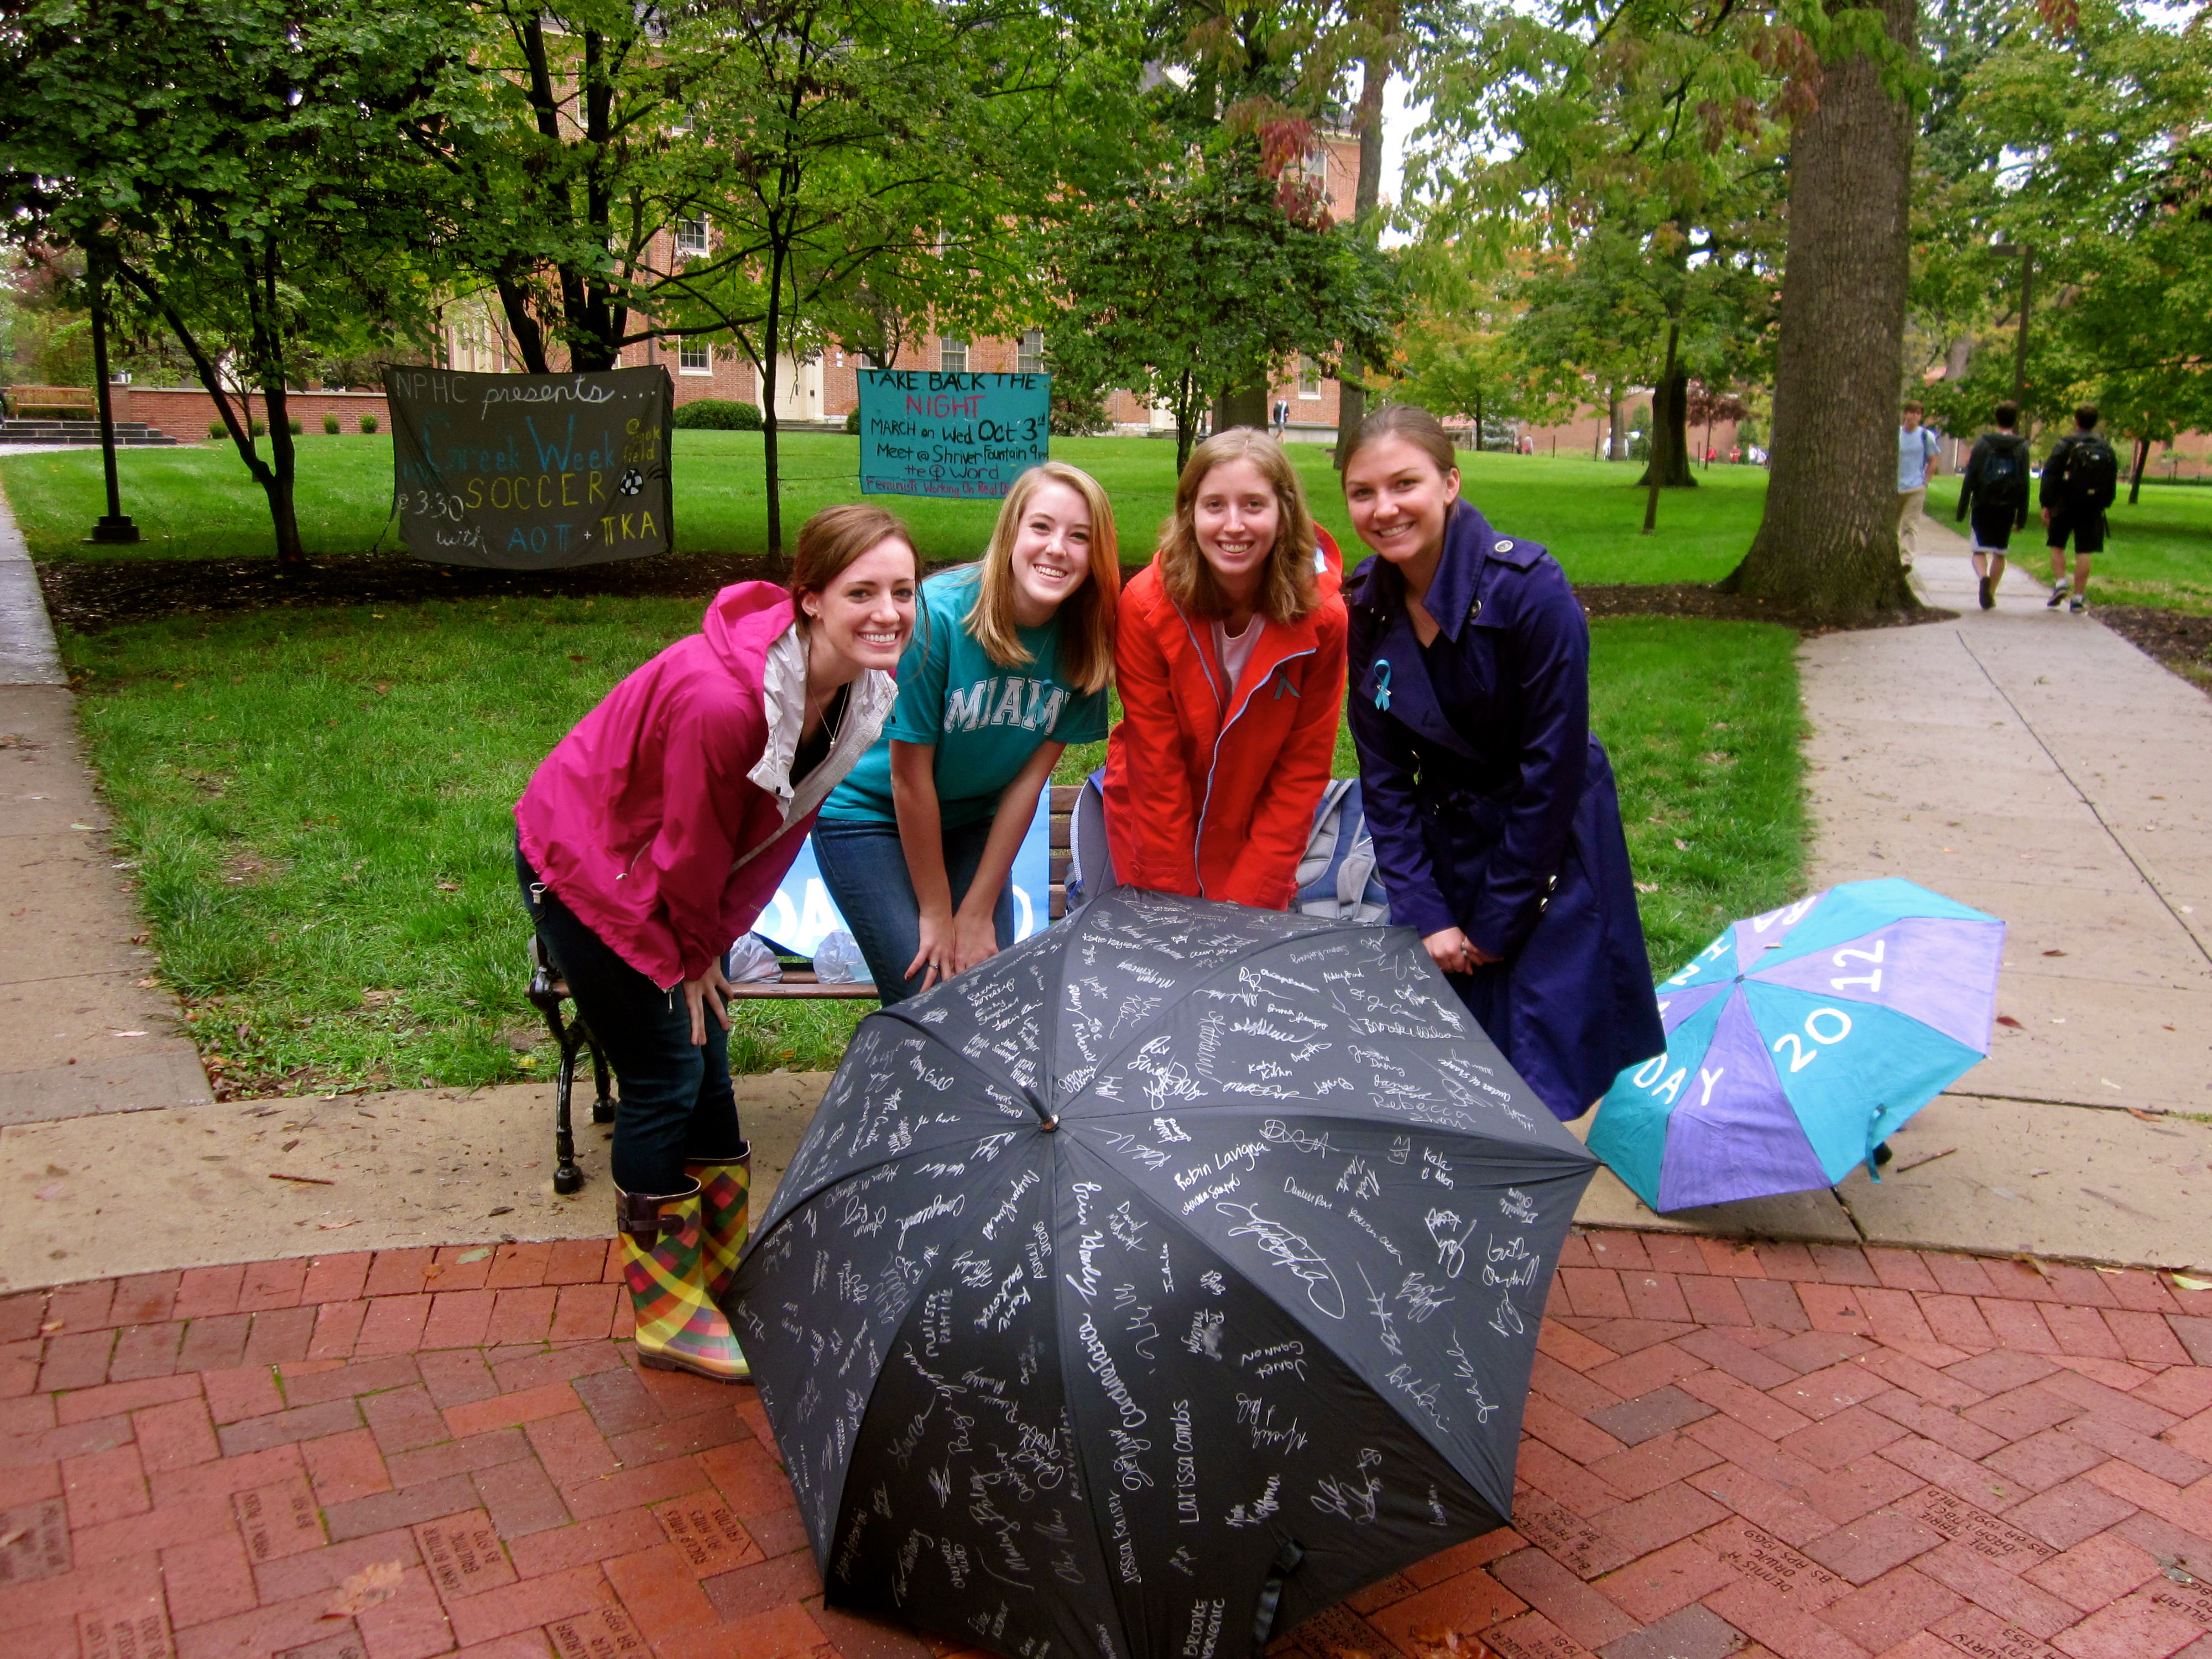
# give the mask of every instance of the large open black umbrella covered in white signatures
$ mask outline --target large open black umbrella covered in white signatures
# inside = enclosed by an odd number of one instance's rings
[[[734,1296],[832,1606],[1243,1659],[1504,1524],[1593,1172],[1407,927],[1117,889],[872,1015]]]

